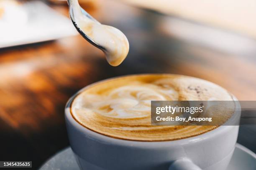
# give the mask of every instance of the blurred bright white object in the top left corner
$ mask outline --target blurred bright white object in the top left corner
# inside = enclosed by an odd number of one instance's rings
[[[0,0],[0,48],[77,35],[69,18],[40,1]]]

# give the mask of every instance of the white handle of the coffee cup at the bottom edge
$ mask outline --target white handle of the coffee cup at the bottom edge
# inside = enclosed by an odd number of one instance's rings
[[[169,170],[202,170],[186,157],[180,158],[172,162]]]

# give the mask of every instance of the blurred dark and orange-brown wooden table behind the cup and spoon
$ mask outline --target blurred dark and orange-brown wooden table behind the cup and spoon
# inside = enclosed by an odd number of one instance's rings
[[[67,12],[65,6],[54,8]],[[157,24],[165,16],[116,1],[100,5],[93,15],[127,35],[130,53],[120,66],[108,65],[103,53],[81,36],[0,49],[0,160],[32,160],[36,169],[67,147],[67,100],[109,77],[184,74],[219,84],[240,100],[256,100],[253,50],[228,53],[185,41],[161,31]]]

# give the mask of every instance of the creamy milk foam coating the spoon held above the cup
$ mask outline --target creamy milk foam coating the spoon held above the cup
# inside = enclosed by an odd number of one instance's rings
[[[97,45],[103,47],[108,63],[118,66],[126,58],[129,43],[126,36],[117,28],[103,25],[82,14],[78,0],[74,0],[74,18],[78,27]]]

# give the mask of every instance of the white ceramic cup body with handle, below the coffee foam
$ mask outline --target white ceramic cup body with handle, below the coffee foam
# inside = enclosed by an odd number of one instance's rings
[[[81,170],[225,170],[233,154],[238,126],[221,126],[181,140],[140,142],[108,137],[83,127],[70,113],[65,119],[70,146]],[[238,102],[236,102],[238,103]],[[229,121],[236,124],[240,105]]]

